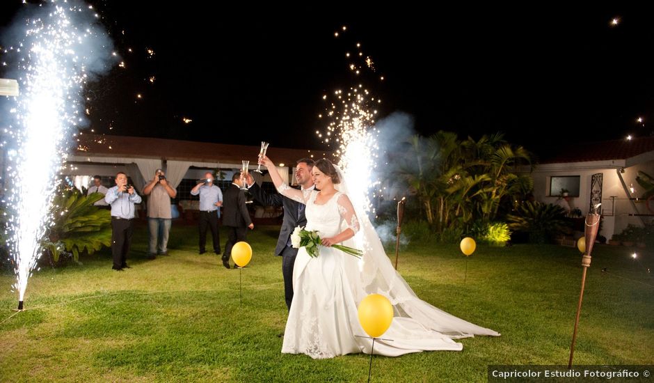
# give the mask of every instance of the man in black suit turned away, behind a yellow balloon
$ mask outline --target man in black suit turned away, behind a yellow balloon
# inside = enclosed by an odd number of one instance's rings
[[[228,269],[230,268],[232,247],[234,247],[235,243],[246,240],[248,228],[250,230],[255,228],[245,204],[246,196],[245,192],[241,190],[242,185],[241,175],[234,173],[232,185],[223,194],[223,226],[227,228],[228,233],[225,253],[223,253],[223,266]],[[236,264],[234,264],[235,268],[237,268]]]

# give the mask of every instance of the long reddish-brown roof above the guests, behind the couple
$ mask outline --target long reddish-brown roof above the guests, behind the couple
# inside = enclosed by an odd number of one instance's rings
[[[240,164],[241,160],[246,159],[250,160],[250,164],[256,164],[260,150],[260,146],[149,137],[81,134],[78,138],[74,156],[161,158],[225,164]],[[295,162],[303,157],[313,156],[314,159],[319,159],[331,155],[330,152],[321,150],[280,148],[275,146],[275,143],[269,146],[266,154],[277,164],[284,163],[289,166],[294,166]]]

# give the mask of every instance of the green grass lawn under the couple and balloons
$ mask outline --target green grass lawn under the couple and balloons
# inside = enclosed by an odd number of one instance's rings
[[[13,315],[13,275],[0,276],[0,380],[365,382],[368,356],[314,361],[280,354],[286,320],[278,228],[249,233],[250,267],[197,253],[194,226],[173,226],[170,256],[145,260],[136,230],[125,272],[109,252],[43,267]],[[210,236],[209,236],[210,237]],[[225,235],[221,238],[226,239]],[[209,240],[210,241],[210,240]],[[207,247],[211,248],[211,247]],[[587,276],[575,364],[654,364],[653,253],[597,246]],[[468,276],[464,283],[465,263]],[[485,382],[489,364],[567,364],[582,274],[577,249],[410,244],[399,270],[417,295],[502,333],[463,352],[375,357],[375,382]],[[602,272],[603,267],[607,272]],[[13,315],[13,316],[11,316]]]

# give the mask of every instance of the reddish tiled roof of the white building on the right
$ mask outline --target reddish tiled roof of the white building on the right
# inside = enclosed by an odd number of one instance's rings
[[[541,164],[628,159],[643,153],[654,152],[654,136],[631,140],[575,143],[551,149],[550,153],[541,153],[539,161]]]

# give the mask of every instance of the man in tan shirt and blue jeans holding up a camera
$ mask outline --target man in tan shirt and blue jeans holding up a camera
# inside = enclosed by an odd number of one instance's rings
[[[168,233],[173,215],[170,211],[170,198],[177,196],[177,190],[168,184],[161,169],[154,171],[154,178],[143,188],[147,196],[147,227],[150,231],[150,247],[147,258],[154,259],[155,254],[168,255]]]

